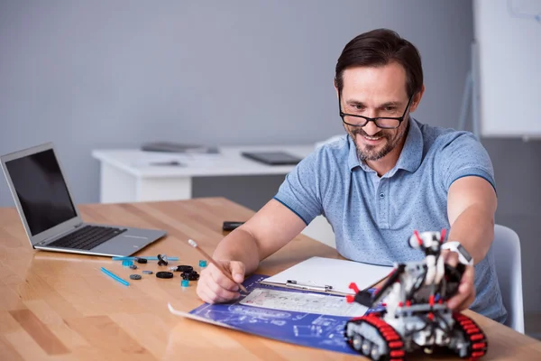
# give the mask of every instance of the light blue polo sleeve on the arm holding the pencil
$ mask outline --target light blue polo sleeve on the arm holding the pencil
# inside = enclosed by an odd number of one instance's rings
[[[286,176],[274,199],[289,208],[307,225],[323,213],[319,190],[318,152],[311,153]]]

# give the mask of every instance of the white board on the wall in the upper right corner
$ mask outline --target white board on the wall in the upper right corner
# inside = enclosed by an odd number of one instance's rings
[[[541,0],[474,0],[481,135],[541,138]]]

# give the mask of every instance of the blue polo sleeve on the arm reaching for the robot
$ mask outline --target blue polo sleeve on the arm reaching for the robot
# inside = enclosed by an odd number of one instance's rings
[[[470,176],[487,180],[496,190],[489,153],[471,133],[454,133],[445,142],[438,162],[445,190],[449,190],[454,180]]]

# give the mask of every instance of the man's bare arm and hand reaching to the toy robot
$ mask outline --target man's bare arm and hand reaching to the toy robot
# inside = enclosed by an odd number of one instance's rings
[[[449,241],[458,241],[472,255],[475,264],[481,262],[494,239],[496,192],[491,183],[477,176],[455,180],[447,194],[447,215],[451,230]],[[449,263],[457,256],[450,254]],[[449,308],[464,310],[475,300],[474,269],[466,267],[458,293],[447,302]]]

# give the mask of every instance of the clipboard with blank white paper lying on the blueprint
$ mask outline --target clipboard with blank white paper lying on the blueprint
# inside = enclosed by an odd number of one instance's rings
[[[381,282],[393,269],[394,267],[383,265],[312,257],[261,281],[261,283],[269,286],[345,296],[354,294],[349,288],[351,282],[355,282],[359,290],[367,290],[374,284]]]

